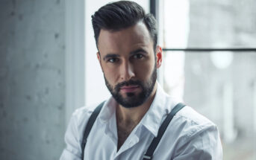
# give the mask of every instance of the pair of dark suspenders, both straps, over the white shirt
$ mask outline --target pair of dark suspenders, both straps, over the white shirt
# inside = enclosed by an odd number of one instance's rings
[[[82,154],[81,157],[82,159],[84,159],[84,147],[87,143],[87,137],[90,133],[90,129],[92,129],[94,122],[96,121],[97,116],[99,115],[99,112],[102,109],[104,102],[100,103],[99,106],[96,107],[96,109],[94,109],[93,114],[90,116],[89,121],[87,123],[87,127],[84,129],[84,138],[83,141],[81,143],[81,149],[82,149]],[[143,160],[147,160],[147,159],[152,159],[154,150],[157,148],[157,145],[159,144],[160,139],[163,136],[163,133],[166,131],[166,128],[168,127],[170,121],[172,121],[172,118],[174,117],[174,115],[181,110],[184,106],[186,106],[184,103],[178,103],[174,109],[172,109],[172,112],[170,112],[166,119],[163,121],[163,124],[161,124],[158,132],[157,132],[157,137],[155,137],[151,144],[149,145],[148,150],[146,151],[145,155],[143,156]]]

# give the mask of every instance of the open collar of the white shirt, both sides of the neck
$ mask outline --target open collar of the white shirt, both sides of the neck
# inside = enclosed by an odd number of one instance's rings
[[[146,112],[146,115],[144,115],[143,119],[140,121],[140,124],[149,129],[149,131],[152,132],[155,137],[157,136],[157,132],[160,124],[163,121],[164,115],[167,115],[173,106],[171,104],[166,105],[166,97],[169,97],[169,95],[163,91],[162,87],[157,82],[157,91],[154,96],[152,105],[149,107],[148,112]],[[102,107],[102,112],[99,114],[100,121],[102,121],[104,124],[107,124],[107,122],[110,121],[110,118],[115,115],[115,112],[116,100],[114,100],[111,96]]]

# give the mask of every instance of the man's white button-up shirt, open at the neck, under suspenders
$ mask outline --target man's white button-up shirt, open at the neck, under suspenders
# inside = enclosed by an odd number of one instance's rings
[[[178,103],[157,84],[157,92],[146,115],[117,150],[116,100],[110,97],[99,113],[84,149],[84,160],[139,160],[157,136],[160,124]],[[66,130],[66,148],[60,160],[81,160],[83,131],[93,109],[77,109]],[[222,144],[215,124],[185,106],[172,118],[154,151],[154,160],[222,159]]]

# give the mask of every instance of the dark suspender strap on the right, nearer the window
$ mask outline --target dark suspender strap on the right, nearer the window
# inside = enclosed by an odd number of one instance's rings
[[[149,145],[148,150],[146,151],[145,155],[143,156],[143,160],[152,159],[154,150],[157,148],[157,145],[159,144],[160,139],[163,136],[163,133],[166,131],[166,128],[168,127],[170,121],[172,121],[173,116],[181,110],[184,106],[186,106],[184,103],[178,103],[174,109],[172,109],[172,112],[170,112],[166,119],[163,121],[163,124],[161,124],[158,132],[157,137],[153,139],[151,144]]]

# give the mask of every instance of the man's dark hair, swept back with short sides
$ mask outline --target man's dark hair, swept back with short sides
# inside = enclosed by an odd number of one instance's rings
[[[116,1],[99,8],[92,16],[94,37],[98,48],[98,39],[101,29],[109,31],[120,31],[144,22],[157,46],[157,22],[152,14],[146,14],[139,4],[134,1]]]

